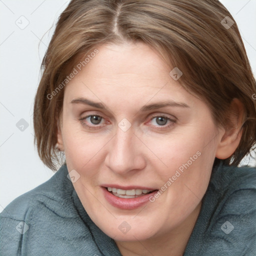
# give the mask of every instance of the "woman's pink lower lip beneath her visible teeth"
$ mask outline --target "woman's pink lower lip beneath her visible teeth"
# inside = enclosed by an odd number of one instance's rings
[[[143,204],[149,202],[149,197],[153,196],[155,193],[157,193],[157,190],[141,195],[134,198],[121,198],[113,195],[111,192],[109,192],[105,187],[101,187],[103,189],[103,194],[106,198],[106,200],[114,207],[125,209],[125,210],[132,210],[136,209]]]

